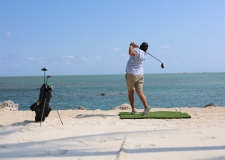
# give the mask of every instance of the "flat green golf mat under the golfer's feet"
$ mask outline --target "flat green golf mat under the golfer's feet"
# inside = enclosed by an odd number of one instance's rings
[[[154,119],[176,119],[176,118],[191,118],[187,113],[181,112],[171,112],[171,111],[157,111],[149,112],[147,116],[142,116],[142,112],[138,114],[131,114],[131,112],[120,112],[119,116],[121,119],[144,119],[144,118],[154,118]]]

